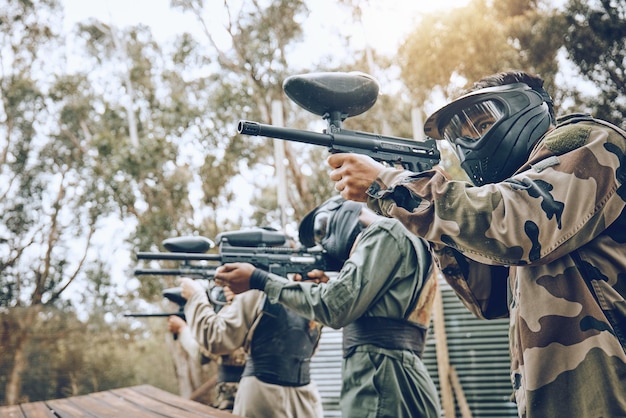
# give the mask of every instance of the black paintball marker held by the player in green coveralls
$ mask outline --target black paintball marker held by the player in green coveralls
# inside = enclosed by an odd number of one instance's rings
[[[294,249],[288,245],[285,234],[265,228],[252,228],[224,232],[217,236],[219,254],[206,253],[137,253],[144,260],[181,260],[187,262],[212,262],[205,268],[217,268],[226,263],[250,263],[254,266],[286,277],[306,274],[314,269],[326,270],[324,252],[316,249]]]

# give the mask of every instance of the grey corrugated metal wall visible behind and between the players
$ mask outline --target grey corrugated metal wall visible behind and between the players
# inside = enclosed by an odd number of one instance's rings
[[[517,409],[509,401],[508,319],[479,320],[441,283],[450,364],[461,381],[474,418],[515,418]],[[434,332],[424,352],[424,363],[439,389]],[[312,376],[324,402],[324,416],[340,417],[341,330],[324,328],[320,347],[313,357]],[[457,406],[457,416],[461,416]]]

